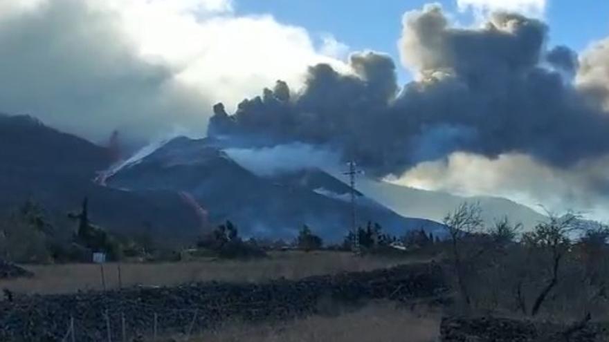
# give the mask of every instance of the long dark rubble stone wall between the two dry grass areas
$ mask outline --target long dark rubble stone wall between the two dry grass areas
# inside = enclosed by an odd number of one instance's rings
[[[320,302],[354,304],[368,299],[438,298],[447,287],[437,265],[403,265],[372,272],[313,276],[269,283],[199,283],[111,292],[19,296],[0,302],[0,341],[62,341],[71,319],[76,341],[120,341],[158,332],[205,329],[230,320],[276,321],[320,311]],[[107,315],[107,316],[106,316]]]

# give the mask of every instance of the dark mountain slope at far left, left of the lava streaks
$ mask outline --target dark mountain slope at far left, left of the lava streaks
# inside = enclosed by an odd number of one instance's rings
[[[179,193],[121,191],[93,182],[109,166],[107,149],[28,116],[0,115],[0,213],[28,198],[48,210],[58,234],[71,234],[69,211],[85,196],[94,223],[115,233],[146,229],[165,241],[191,240],[199,221]]]

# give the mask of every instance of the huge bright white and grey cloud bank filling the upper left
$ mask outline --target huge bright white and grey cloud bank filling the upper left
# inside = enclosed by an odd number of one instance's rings
[[[204,135],[233,108],[307,66],[344,64],[304,28],[238,16],[230,0],[1,0],[0,112],[28,113],[91,140]],[[339,45],[339,43],[337,43]]]

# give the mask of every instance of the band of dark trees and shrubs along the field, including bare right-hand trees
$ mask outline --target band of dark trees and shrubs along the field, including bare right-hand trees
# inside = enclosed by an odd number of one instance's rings
[[[91,222],[89,202],[69,217],[73,234],[62,236],[46,211],[33,200],[0,220],[0,258],[17,263],[90,262],[93,251],[104,251],[110,260],[205,260],[270,258],[298,249],[315,256],[350,251],[354,234],[338,246],[325,246],[320,236],[303,225],[292,243],[244,240],[233,222],[218,225],[188,249],[162,248],[149,231],[138,236],[113,236]],[[535,227],[523,227],[504,217],[484,225],[480,206],[464,203],[444,219],[445,234],[433,236],[424,229],[401,237],[368,222],[359,227],[358,241],[364,256],[434,258],[446,267],[455,289],[460,313],[493,312],[530,317],[603,316],[609,312],[609,227],[582,220],[573,213],[557,216]],[[379,260],[381,260],[379,258]],[[382,265],[378,265],[382,267]],[[219,265],[219,267],[224,267]],[[306,269],[307,265],[300,265]]]

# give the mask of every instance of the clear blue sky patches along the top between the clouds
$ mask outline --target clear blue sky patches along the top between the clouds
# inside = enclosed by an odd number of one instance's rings
[[[493,2],[493,0],[488,0]],[[509,1],[509,0],[499,0]],[[525,0],[522,0],[525,1]],[[236,0],[239,14],[271,14],[282,23],[302,26],[313,37],[333,35],[351,50],[372,49],[390,53],[398,61],[396,41],[404,12],[421,8],[424,0]],[[460,11],[457,0],[435,1],[460,23],[473,21],[471,12]],[[576,51],[609,33],[609,1],[547,0],[543,13],[550,26],[549,43],[564,44]],[[409,78],[399,68],[402,82]]]

